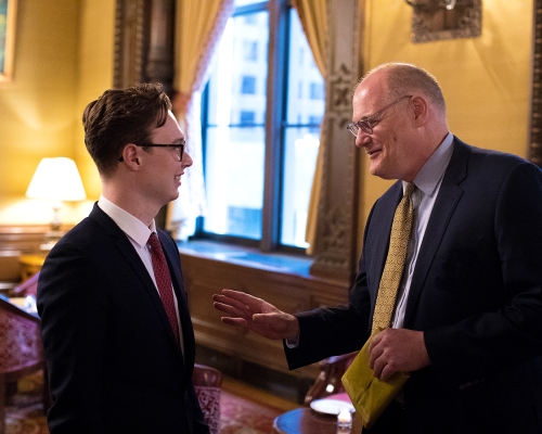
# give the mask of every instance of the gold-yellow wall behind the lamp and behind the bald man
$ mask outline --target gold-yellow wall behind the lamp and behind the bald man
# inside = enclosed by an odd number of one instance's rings
[[[452,132],[526,156],[532,2],[482,0],[480,37],[427,43],[411,42],[412,9],[403,0],[365,3],[365,71],[392,61],[426,67],[443,88]],[[14,79],[0,84],[0,225],[49,221],[49,205],[24,196],[44,156],[74,158],[89,196],[65,206],[64,221],[78,221],[98,199],[100,180],[80,117],[112,87],[114,20],[112,0],[18,0]],[[362,227],[389,181],[372,177],[360,155]]]

